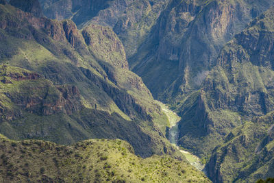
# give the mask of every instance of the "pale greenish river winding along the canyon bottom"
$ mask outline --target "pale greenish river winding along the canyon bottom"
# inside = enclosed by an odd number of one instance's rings
[[[199,171],[203,171],[205,165],[201,163],[201,160],[199,157],[191,154],[188,151],[182,150],[178,146],[178,137],[179,137],[179,127],[178,122],[181,120],[181,118],[172,110],[168,108],[164,103],[161,103],[158,101],[158,104],[161,106],[162,111],[166,114],[166,116],[169,119],[169,141],[172,145],[174,145],[179,151],[186,157],[186,160],[190,162],[190,164],[198,169]],[[206,172],[205,172],[206,173]]]

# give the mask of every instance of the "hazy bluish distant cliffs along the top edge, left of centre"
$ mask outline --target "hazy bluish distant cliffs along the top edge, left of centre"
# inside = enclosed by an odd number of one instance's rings
[[[83,27],[89,21],[102,25],[114,26],[132,1],[112,0],[40,0],[45,16],[50,19],[72,19],[77,26]]]

